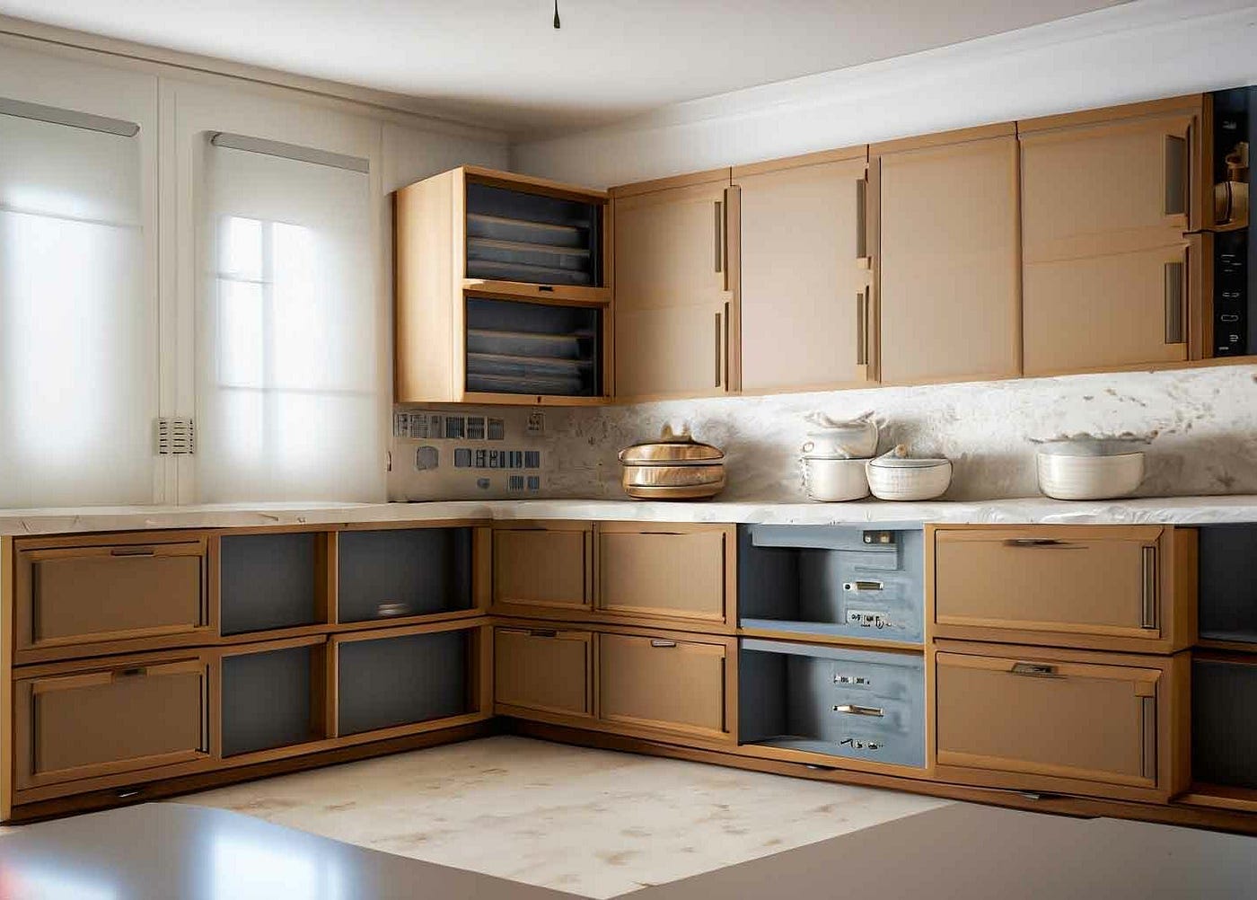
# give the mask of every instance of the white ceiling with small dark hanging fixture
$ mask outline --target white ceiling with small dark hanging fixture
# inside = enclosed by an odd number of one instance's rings
[[[0,0],[0,13],[431,101],[537,136],[1124,0]]]

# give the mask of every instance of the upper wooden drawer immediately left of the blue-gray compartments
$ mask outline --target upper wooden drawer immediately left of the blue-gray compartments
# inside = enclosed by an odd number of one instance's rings
[[[600,523],[600,612],[728,622],[735,581],[733,525]]]

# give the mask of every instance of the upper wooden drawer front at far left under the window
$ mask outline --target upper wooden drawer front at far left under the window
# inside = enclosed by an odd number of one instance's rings
[[[207,622],[205,543],[18,554],[18,647],[146,637]]]

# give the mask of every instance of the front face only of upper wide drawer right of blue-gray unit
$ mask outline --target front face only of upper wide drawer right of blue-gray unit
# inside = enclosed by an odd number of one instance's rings
[[[1161,530],[939,530],[935,622],[1156,640]]]

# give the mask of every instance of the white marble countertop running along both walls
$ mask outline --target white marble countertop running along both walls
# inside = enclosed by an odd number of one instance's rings
[[[773,503],[709,500],[458,500],[434,503],[263,503],[187,507],[82,507],[0,512],[0,534],[72,534],[163,528],[331,525],[444,519],[596,519],[628,522],[861,522],[1219,524],[1257,522],[1257,495],[1067,502],[1045,497],[929,503]]]

